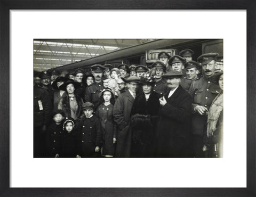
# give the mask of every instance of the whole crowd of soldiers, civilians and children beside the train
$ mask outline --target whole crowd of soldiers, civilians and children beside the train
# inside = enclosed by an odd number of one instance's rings
[[[34,157],[222,157],[218,53],[34,71]]]

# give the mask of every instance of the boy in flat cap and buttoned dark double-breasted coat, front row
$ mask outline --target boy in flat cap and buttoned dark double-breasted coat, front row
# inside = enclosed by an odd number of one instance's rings
[[[100,157],[101,126],[96,116],[93,116],[94,105],[85,102],[82,105],[84,117],[79,121],[79,139],[81,157]]]

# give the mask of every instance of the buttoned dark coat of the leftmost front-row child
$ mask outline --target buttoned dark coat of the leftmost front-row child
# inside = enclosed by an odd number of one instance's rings
[[[48,127],[46,133],[46,147],[48,157],[55,157],[56,154],[60,154],[62,132],[62,124],[56,125],[54,122]]]

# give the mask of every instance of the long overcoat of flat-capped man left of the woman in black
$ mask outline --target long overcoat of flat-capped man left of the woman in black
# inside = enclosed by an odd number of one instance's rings
[[[134,102],[129,90],[118,96],[114,105],[114,120],[117,124],[116,157],[130,157],[132,130],[131,110]]]

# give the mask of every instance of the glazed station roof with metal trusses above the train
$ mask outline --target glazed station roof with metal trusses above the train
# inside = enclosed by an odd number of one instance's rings
[[[155,39],[34,39],[34,69],[43,71]]]

